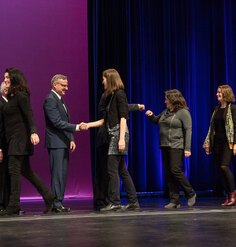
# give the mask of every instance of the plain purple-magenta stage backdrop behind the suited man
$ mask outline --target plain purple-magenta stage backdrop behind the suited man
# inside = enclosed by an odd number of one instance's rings
[[[68,76],[65,101],[72,123],[89,115],[87,1],[1,0],[0,72],[20,68],[28,79],[41,142],[31,159],[33,169],[50,186],[47,150],[44,148],[43,101],[54,74]],[[75,134],[76,151],[70,156],[67,196],[91,196],[89,132]],[[23,179],[22,196],[38,196]]]

